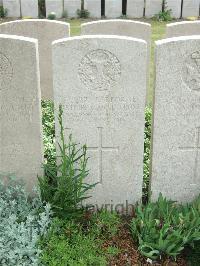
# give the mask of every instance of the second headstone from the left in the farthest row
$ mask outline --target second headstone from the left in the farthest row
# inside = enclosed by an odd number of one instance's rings
[[[36,0],[21,0],[22,17],[38,17],[38,1]]]

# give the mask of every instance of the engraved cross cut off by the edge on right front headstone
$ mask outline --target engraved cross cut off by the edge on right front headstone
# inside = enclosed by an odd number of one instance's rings
[[[180,149],[183,151],[195,151],[194,182],[196,182],[198,178],[198,163],[199,163],[199,151],[200,151],[200,127],[196,128],[195,145],[180,147]]]

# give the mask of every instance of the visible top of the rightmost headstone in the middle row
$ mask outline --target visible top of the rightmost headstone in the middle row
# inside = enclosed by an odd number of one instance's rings
[[[183,21],[167,24],[167,38],[188,35],[200,35],[200,21]]]

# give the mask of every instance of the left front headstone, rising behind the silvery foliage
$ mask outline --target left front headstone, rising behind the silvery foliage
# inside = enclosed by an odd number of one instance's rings
[[[0,35],[0,174],[42,174],[41,97],[37,41]]]

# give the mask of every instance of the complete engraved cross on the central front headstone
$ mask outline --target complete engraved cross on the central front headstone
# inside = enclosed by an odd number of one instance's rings
[[[98,151],[98,160],[99,160],[99,183],[102,184],[103,182],[103,178],[102,178],[102,163],[103,163],[103,151],[108,151],[108,152],[113,152],[113,151],[116,151],[118,152],[119,151],[119,147],[105,147],[103,146],[103,143],[102,143],[102,131],[103,131],[103,128],[102,127],[98,127],[98,141],[99,141],[99,144],[98,146],[96,147],[87,147],[89,151]]]

